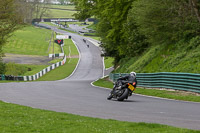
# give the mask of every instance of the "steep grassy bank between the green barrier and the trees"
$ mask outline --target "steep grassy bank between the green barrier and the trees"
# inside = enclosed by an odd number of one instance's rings
[[[200,73],[200,37],[189,42],[152,46],[142,55],[124,58],[115,71],[126,73],[185,72]]]

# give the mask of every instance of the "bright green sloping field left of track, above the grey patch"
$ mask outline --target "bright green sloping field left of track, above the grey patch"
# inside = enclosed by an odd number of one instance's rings
[[[14,32],[3,47],[3,52],[47,56],[50,37],[50,30],[26,26]]]

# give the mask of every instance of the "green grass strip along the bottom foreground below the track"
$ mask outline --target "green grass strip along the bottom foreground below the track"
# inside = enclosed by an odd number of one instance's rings
[[[198,133],[147,123],[121,122],[59,113],[0,101],[1,133]]]

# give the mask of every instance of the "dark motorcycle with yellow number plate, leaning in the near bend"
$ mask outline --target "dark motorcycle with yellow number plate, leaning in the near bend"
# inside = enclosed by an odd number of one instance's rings
[[[132,95],[133,91],[136,89],[136,82],[121,84],[120,81],[114,83],[113,90],[109,93],[107,97],[108,100],[112,98],[117,99],[118,101],[123,101],[128,99]]]

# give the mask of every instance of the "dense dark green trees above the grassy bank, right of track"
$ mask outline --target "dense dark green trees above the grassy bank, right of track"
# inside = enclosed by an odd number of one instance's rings
[[[98,19],[105,56],[119,61],[152,45],[200,36],[199,0],[72,0],[77,19]]]

